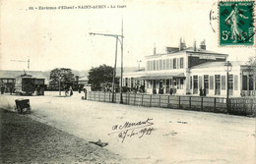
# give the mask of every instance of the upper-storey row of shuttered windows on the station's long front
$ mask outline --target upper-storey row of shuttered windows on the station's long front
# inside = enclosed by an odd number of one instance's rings
[[[147,71],[159,71],[159,70],[172,70],[172,69],[183,69],[184,59],[173,58],[173,59],[160,59],[147,61]]]

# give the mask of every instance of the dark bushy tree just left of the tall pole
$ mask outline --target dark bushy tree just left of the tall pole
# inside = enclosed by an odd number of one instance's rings
[[[113,81],[113,68],[106,65],[92,68],[88,76],[89,83],[92,83],[92,90],[100,90],[100,83],[110,83]],[[117,79],[115,79],[115,83]]]

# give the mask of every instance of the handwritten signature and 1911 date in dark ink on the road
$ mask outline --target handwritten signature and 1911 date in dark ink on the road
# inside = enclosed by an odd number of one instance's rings
[[[108,135],[118,134],[118,137],[124,142],[126,137],[144,137],[152,134],[156,129],[151,126],[154,125],[153,119],[148,118],[146,121],[139,121],[136,123],[125,122],[123,125],[114,125],[112,133]]]

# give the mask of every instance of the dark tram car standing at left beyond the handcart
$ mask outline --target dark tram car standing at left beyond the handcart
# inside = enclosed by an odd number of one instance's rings
[[[15,79],[15,92],[20,95],[43,95],[44,79],[36,79],[31,75],[21,75]]]

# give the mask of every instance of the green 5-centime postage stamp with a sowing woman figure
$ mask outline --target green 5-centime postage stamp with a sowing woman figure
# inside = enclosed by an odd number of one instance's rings
[[[219,2],[220,45],[254,45],[254,1]]]

